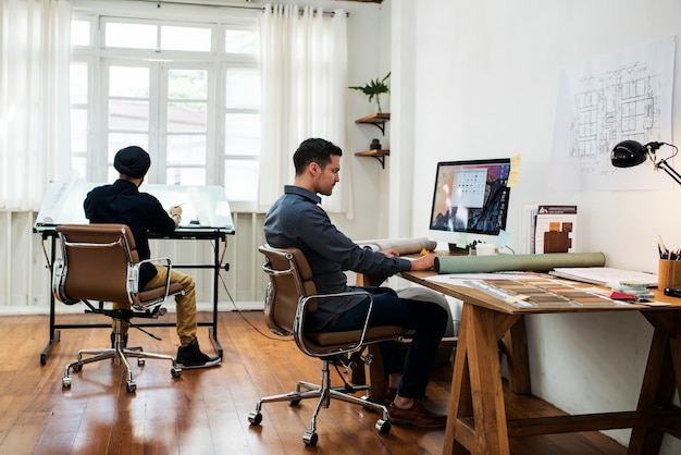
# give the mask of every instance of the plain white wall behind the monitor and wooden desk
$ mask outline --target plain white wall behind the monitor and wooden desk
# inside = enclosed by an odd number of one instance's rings
[[[521,207],[536,202],[577,204],[581,249],[604,251],[611,267],[656,271],[658,234],[681,245],[681,188],[567,192],[552,189],[546,177],[561,70],[678,35],[678,0],[391,2],[394,17],[395,11],[411,11],[400,26],[411,27],[416,39],[413,50],[394,50],[407,52],[401,58],[411,58],[416,69],[414,84],[399,87],[416,99],[414,148],[393,147],[391,156],[393,165],[401,155],[418,156],[412,235],[426,233],[436,161],[521,153],[507,226],[511,246],[519,247]],[[677,86],[680,64],[677,46]],[[663,138],[668,143],[681,137],[681,93],[673,97],[673,137]],[[651,336],[637,313],[530,317],[532,390],[570,413],[632,409]],[[626,443],[629,431],[608,433]],[[681,443],[666,438],[661,453],[680,452]]]

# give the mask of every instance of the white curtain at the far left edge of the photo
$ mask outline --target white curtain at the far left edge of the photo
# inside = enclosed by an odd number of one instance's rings
[[[69,175],[70,28],[67,0],[0,0],[0,209]]]

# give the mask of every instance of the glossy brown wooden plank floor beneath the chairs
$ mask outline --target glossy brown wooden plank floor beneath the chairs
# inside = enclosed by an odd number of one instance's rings
[[[58,322],[92,318],[65,315]],[[224,349],[220,367],[185,370],[173,379],[168,361],[134,364],[135,393],[126,392],[121,366],[109,360],[86,365],[73,374],[72,388],[62,390],[65,364],[78,348],[107,347],[110,331],[63,330],[47,365],[41,366],[48,323],[47,316],[0,318],[0,454],[442,453],[444,429],[394,426],[389,434],[381,435],[373,428],[377,413],[338,402],[322,409],[315,447],[305,447],[301,440],[312,402],[265,404],[261,426],[249,426],[248,414],[260,395],[288,392],[298,379],[317,382],[320,377],[319,361],[300,354],[292,341],[271,335],[259,311],[220,315],[219,339]],[[164,341],[132,330],[128,344],[174,356],[174,328],[152,331]],[[200,329],[199,342],[203,351],[212,351],[207,328]],[[434,369],[428,389],[431,408],[446,410],[450,382],[450,364]],[[507,407],[517,417],[558,413],[543,402],[512,394],[507,394]],[[626,453],[599,433],[511,440],[511,451],[518,455]]]

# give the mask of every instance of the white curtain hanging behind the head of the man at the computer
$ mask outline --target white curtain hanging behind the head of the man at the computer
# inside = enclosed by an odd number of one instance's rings
[[[292,157],[302,140],[322,137],[346,149],[346,13],[268,4],[261,40],[263,134],[258,206],[267,210],[283,186],[293,182]],[[340,182],[323,206],[351,219],[349,170],[342,160]]]

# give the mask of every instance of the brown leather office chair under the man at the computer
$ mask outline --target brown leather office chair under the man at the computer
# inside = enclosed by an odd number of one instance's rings
[[[262,421],[263,403],[287,401],[292,405],[297,405],[301,399],[319,397],[310,429],[302,435],[306,445],[313,446],[317,444],[317,416],[322,406],[329,407],[332,398],[380,410],[382,418],[376,421],[375,428],[383,434],[389,432],[391,422],[388,421],[387,408],[382,404],[372,402],[370,396],[366,398],[355,396],[359,392],[368,391],[369,388],[367,385],[350,385],[345,379],[343,379],[344,386],[332,388],[330,366],[335,365],[336,368],[338,365],[350,367],[352,364],[368,361],[369,359],[361,357],[367,345],[387,340],[398,340],[404,333],[403,329],[398,325],[368,328],[369,318],[367,317],[361,330],[306,332],[305,318],[317,310],[319,299],[356,294],[371,298],[371,294],[360,292],[318,295],[312,282],[310,266],[299,249],[273,248],[269,245],[258,249],[267,258],[262,269],[270,278],[264,307],[268,327],[278,335],[293,335],[296,345],[302,353],[321,359],[322,381],[321,384],[298,381],[294,392],[261,397],[256,405],[256,410],[248,416],[250,423],[257,426]],[[373,303],[373,299],[371,302]]]

